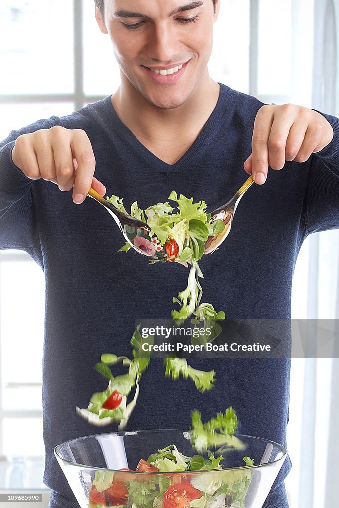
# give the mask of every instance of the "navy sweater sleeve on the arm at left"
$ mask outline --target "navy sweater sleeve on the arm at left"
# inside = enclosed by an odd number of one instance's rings
[[[12,131],[0,143],[0,248],[17,248],[33,253],[39,250],[31,189],[35,181],[15,166],[12,150],[16,139],[41,129],[50,129],[59,119],[39,120],[20,131]]]

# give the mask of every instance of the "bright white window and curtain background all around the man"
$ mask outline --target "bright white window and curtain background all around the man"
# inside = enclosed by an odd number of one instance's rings
[[[338,0],[221,3],[210,62],[215,80],[265,103],[292,102],[339,116]],[[38,118],[106,97],[119,83],[94,0],[2,0],[0,69],[1,139]],[[304,242],[294,276],[294,319],[338,319],[338,244],[337,231]],[[24,252],[0,251],[0,492],[44,488],[43,321],[41,269]],[[291,508],[336,505],[337,371],[337,359],[292,360]]]

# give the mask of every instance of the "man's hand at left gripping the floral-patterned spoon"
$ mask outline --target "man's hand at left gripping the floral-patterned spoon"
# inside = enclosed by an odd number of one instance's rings
[[[70,190],[74,185],[76,204],[85,200],[90,186],[101,196],[106,194],[105,185],[93,176],[96,160],[84,131],[54,125],[23,134],[15,142],[12,160],[28,178],[49,180],[60,190]]]

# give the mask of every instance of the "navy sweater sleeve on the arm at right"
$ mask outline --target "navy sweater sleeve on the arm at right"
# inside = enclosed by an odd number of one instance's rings
[[[304,211],[307,233],[339,228],[339,118],[323,116],[333,128],[332,141],[311,156]]]

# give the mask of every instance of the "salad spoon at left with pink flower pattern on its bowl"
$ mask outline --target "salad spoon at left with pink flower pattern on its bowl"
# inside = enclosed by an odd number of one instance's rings
[[[134,250],[153,260],[167,257],[165,247],[161,245],[155,233],[151,234],[151,229],[146,223],[120,212],[114,205],[100,196],[93,187],[90,187],[88,196],[98,201],[110,213],[126,241]]]

